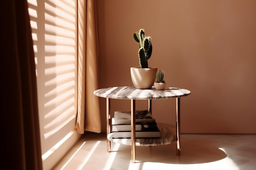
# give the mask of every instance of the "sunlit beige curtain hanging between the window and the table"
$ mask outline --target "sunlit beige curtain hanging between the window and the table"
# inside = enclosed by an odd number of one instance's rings
[[[76,128],[101,132],[99,98],[93,94],[98,88],[96,2],[78,0],[78,114]]]

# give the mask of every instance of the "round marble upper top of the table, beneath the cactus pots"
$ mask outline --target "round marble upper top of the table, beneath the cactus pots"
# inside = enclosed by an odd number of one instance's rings
[[[110,99],[169,99],[189,95],[191,92],[182,88],[166,87],[164,90],[137,89],[134,86],[101,88],[94,95]]]

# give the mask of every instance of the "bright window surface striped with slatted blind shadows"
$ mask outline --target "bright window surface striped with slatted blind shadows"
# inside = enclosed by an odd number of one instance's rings
[[[77,113],[77,3],[28,0],[36,62],[42,154],[74,128]]]

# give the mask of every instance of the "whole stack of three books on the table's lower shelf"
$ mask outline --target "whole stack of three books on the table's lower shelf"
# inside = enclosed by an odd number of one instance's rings
[[[115,111],[112,118],[113,138],[131,138],[131,112]],[[160,130],[155,118],[148,110],[135,112],[135,137],[160,138]]]

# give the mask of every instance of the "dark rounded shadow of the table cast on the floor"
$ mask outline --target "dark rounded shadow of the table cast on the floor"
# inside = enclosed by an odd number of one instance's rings
[[[219,161],[227,157],[227,154],[216,144],[205,139],[200,141],[184,139],[181,148],[181,155],[176,156],[176,143],[164,146],[136,146],[136,162],[195,164]],[[121,154],[123,149],[119,148],[117,154]],[[130,147],[128,152],[129,149]],[[123,159],[130,159],[130,156]]]

